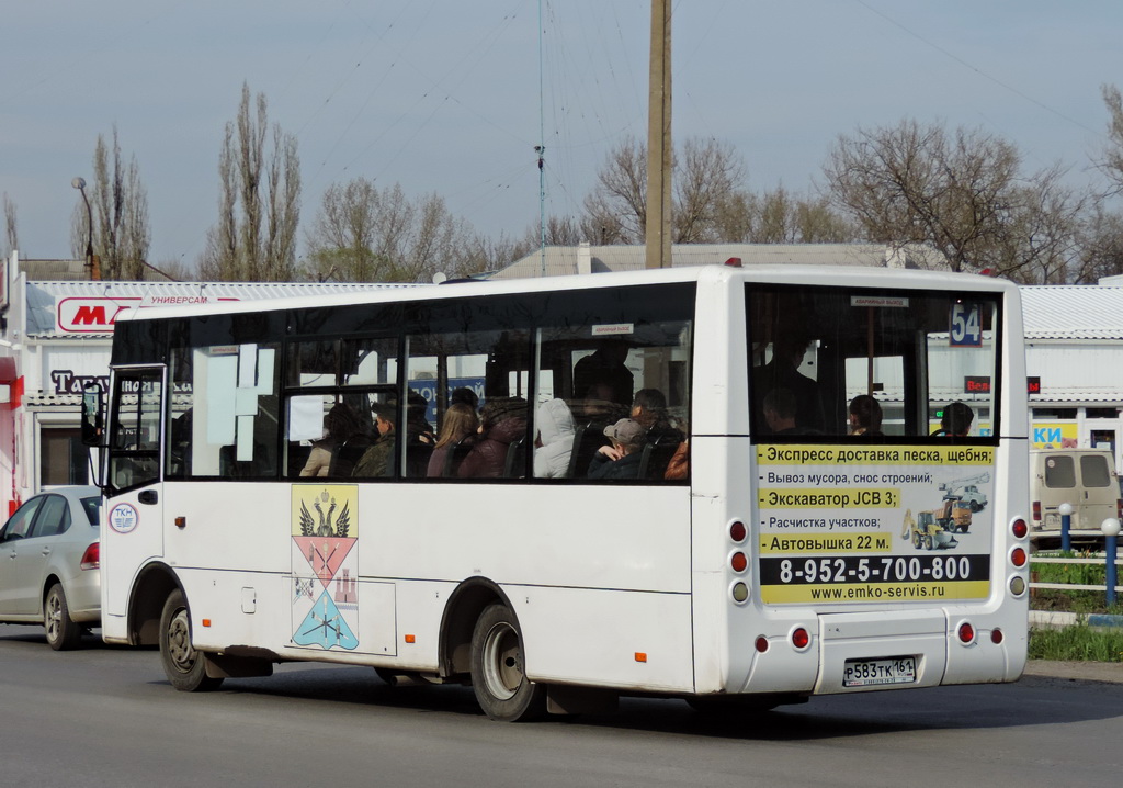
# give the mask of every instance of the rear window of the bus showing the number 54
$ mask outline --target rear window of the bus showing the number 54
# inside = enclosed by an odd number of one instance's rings
[[[754,436],[987,438],[997,297],[746,286]]]

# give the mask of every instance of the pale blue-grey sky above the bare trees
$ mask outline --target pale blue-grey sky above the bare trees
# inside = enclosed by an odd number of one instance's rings
[[[649,20],[649,0],[8,3],[0,191],[22,256],[70,256],[71,179],[92,180],[116,124],[148,190],[150,262],[193,263],[245,81],[298,137],[301,237],[323,190],[359,175],[521,236],[535,145],[562,215],[615,144],[646,139]],[[1117,0],[679,0],[673,133],[733,145],[752,190],[807,190],[838,135],[903,118],[982,127],[1028,170],[1095,182],[1121,34]]]

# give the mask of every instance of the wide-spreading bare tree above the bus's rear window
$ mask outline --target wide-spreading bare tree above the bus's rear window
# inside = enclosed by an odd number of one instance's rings
[[[840,136],[823,173],[869,241],[930,244],[953,271],[1062,279],[1086,196],[1060,187],[1059,165],[1020,169],[1017,148],[997,136],[904,120]]]

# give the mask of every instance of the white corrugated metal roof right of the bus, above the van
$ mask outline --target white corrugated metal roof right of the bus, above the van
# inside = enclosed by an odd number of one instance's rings
[[[1123,339],[1123,287],[1033,284],[1022,288],[1026,339]]]

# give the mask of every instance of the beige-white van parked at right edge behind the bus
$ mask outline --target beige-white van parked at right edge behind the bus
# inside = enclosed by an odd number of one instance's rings
[[[1074,536],[1101,536],[1099,525],[1120,517],[1119,477],[1107,449],[1040,449],[1030,452],[1033,537],[1059,537],[1061,504],[1071,504]]]

